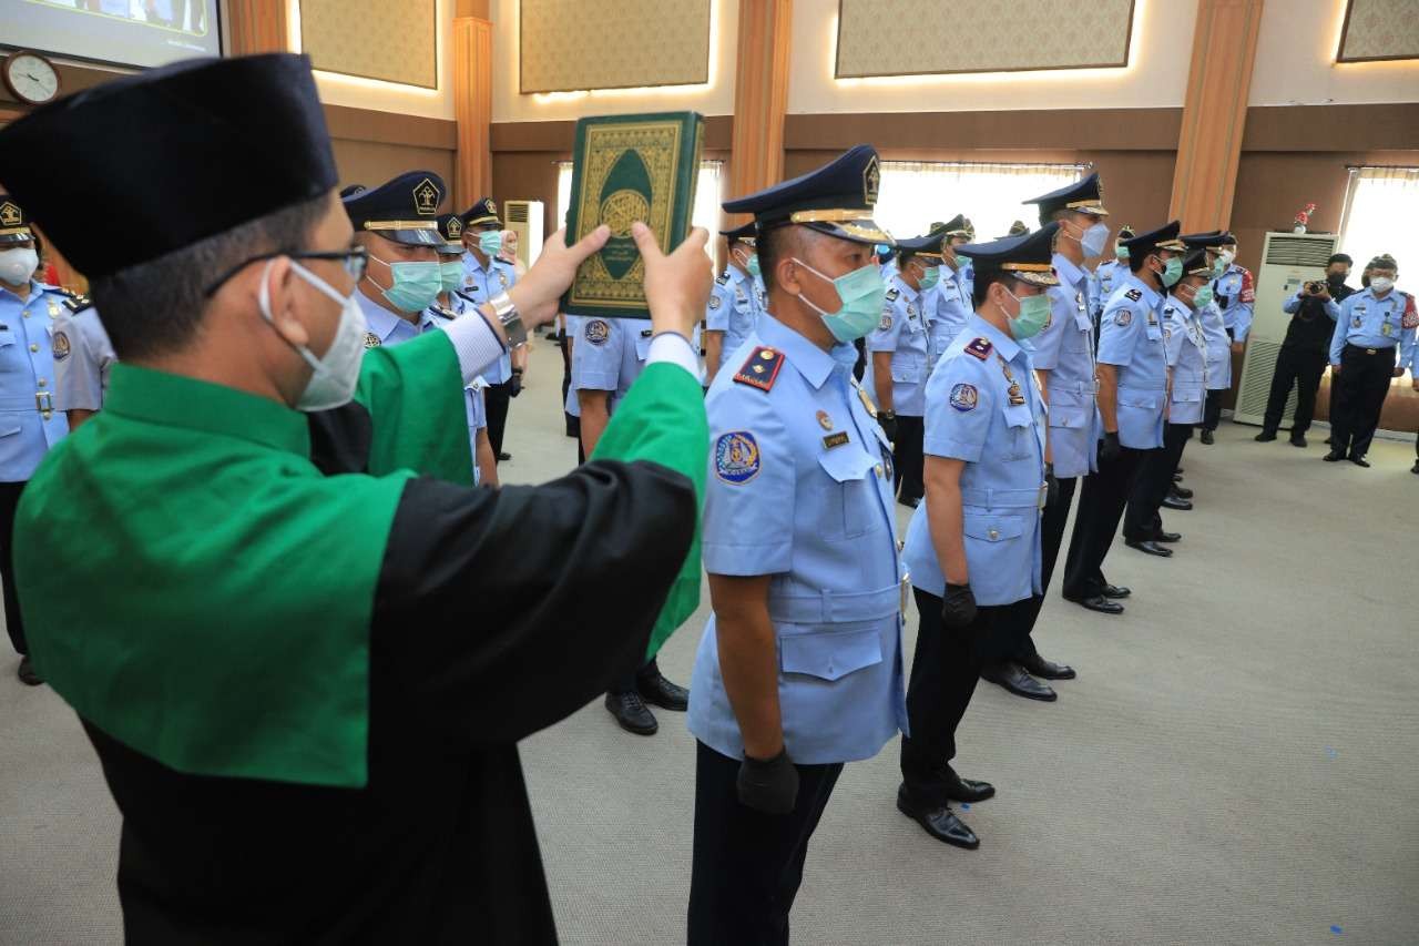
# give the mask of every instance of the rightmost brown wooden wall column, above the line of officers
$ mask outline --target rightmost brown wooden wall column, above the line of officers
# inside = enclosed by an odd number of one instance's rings
[[[1264,0],[1199,0],[1171,216],[1185,233],[1232,219],[1246,99]]]

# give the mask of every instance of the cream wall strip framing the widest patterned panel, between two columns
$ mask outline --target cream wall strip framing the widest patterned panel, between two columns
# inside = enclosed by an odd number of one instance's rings
[[[1286,4],[1290,0],[1276,0]],[[904,27],[924,13],[904,4]],[[789,114],[1181,108],[1198,0],[1138,0],[1130,67],[834,80],[837,0],[795,0]],[[910,41],[904,31],[902,41]]]

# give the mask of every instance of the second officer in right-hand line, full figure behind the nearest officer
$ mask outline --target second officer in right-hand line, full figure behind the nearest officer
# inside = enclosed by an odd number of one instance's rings
[[[1047,501],[1044,403],[1020,345],[1050,321],[1057,223],[968,244],[975,314],[942,355],[927,395],[927,501],[902,553],[921,626],[907,690],[897,808],[958,848],[981,839],[951,801],[995,794],[951,767],[956,727],[986,663],[1016,652],[1043,592],[1040,510]]]

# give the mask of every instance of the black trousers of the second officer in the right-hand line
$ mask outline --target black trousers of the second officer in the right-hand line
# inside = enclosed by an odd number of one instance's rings
[[[921,624],[907,686],[911,736],[901,739],[907,794],[924,805],[946,804],[946,768],[956,757],[956,727],[966,714],[981,668],[1015,651],[1015,635],[1039,598],[982,605],[965,628],[941,624],[941,598],[912,588]]]

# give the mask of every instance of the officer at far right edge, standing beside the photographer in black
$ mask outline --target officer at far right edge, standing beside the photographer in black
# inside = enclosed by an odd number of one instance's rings
[[[1369,261],[1369,286],[1340,307],[1331,338],[1331,452],[1327,463],[1369,466],[1365,455],[1379,426],[1389,379],[1415,359],[1419,314],[1413,300],[1395,288],[1399,264],[1384,253]],[[1395,349],[1399,361],[1395,361]]]

